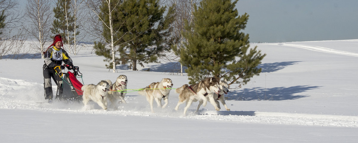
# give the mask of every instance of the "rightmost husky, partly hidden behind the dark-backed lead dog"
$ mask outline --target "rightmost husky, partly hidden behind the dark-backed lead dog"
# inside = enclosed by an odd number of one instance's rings
[[[225,96],[224,94],[227,94],[227,92],[229,92],[229,89],[228,89],[228,84],[227,84],[227,80],[221,80],[219,82],[219,87],[220,87],[220,92],[219,94],[216,94],[216,93],[211,93],[211,94],[208,94],[207,96],[205,96],[209,101],[210,103],[214,106],[215,110],[219,111],[221,108],[220,108],[220,104],[219,104],[219,101],[221,101],[221,104],[223,104],[225,106],[225,109],[226,110],[230,110],[227,106],[226,106],[226,103],[225,103]],[[202,102],[199,101],[199,105],[198,105],[198,108],[197,108],[197,111],[199,110],[200,108],[200,105],[202,105]]]

